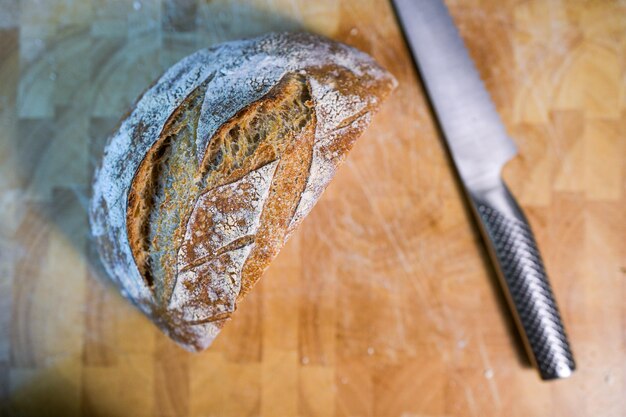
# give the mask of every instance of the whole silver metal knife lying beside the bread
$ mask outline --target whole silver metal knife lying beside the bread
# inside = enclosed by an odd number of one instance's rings
[[[530,225],[501,178],[513,141],[442,0],[392,0],[522,340],[542,379],[576,369]]]

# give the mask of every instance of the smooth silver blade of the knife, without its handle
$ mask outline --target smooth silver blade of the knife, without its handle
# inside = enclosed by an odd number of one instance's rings
[[[516,153],[446,6],[395,0],[398,16],[465,184],[493,185]]]

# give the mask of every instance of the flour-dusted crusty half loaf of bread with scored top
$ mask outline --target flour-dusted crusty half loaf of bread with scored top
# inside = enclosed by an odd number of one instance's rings
[[[310,34],[184,58],[95,173],[91,230],[111,279],[183,347],[208,347],[395,85],[368,55]]]

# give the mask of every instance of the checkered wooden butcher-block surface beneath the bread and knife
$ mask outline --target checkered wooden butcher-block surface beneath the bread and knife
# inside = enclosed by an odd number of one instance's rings
[[[626,415],[626,4],[447,1],[519,156],[578,371],[543,383],[385,0],[0,0],[0,414]],[[216,343],[99,272],[92,167],[138,94],[227,39],[311,30],[400,88]]]

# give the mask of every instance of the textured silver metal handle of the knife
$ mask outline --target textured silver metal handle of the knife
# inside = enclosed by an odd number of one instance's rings
[[[502,181],[470,194],[533,365],[544,380],[568,377],[576,364],[526,217]]]

